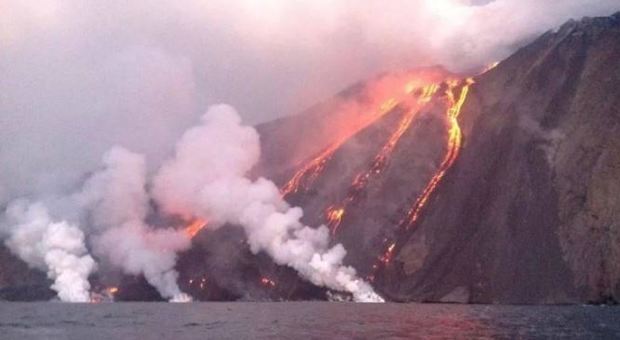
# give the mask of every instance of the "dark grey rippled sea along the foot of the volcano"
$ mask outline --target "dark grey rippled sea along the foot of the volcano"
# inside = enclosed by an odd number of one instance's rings
[[[618,339],[620,308],[0,303],[0,339]]]

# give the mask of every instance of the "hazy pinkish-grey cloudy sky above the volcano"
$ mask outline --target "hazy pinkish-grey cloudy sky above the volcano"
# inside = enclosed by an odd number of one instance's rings
[[[618,0],[0,0],[0,203],[2,191],[88,169],[114,144],[160,159],[209,104],[265,121],[381,71],[479,66],[569,18],[617,10]]]

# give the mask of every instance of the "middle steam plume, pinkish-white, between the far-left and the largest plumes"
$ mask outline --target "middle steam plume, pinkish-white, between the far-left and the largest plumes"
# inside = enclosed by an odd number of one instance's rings
[[[189,300],[179,289],[174,266],[190,240],[182,230],[145,223],[150,205],[144,157],[117,147],[104,156],[104,166],[75,197],[91,212],[94,253],[127,274],[144,275],[164,298]]]

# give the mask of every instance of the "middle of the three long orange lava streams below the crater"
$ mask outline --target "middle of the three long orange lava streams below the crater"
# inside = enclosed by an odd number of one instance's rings
[[[396,130],[390,135],[390,138],[387,140],[383,148],[381,148],[377,156],[375,156],[370,168],[367,171],[355,176],[353,183],[351,183],[347,197],[340,204],[331,205],[326,209],[325,218],[327,219],[327,226],[331,230],[332,234],[335,234],[338,231],[346,208],[349,204],[356,200],[359,194],[368,186],[368,183],[373,176],[377,176],[383,172],[387,165],[388,159],[398,144],[398,141],[401,139],[405,131],[409,129],[414,118],[420,112],[421,107],[431,100],[438,88],[439,86],[436,84],[427,85],[422,88],[422,92],[420,93],[420,97],[418,99],[418,104],[414,108],[411,108],[403,116]],[[414,89],[409,88],[409,86],[406,88],[407,93],[411,93],[413,90]]]

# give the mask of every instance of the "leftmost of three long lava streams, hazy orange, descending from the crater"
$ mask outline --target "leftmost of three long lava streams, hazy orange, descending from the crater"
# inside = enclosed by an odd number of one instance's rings
[[[396,105],[398,101],[395,98],[389,98],[384,101],[379,107],[379,114],[375,115],[373,119],[369,119],[364,124],[360,124],[359,128],[355,131],[351,132],[347,136],[339,139],[332,145],[328,146],[325,150],[323,150],[318,156],[311,159],[306,165],[301,168],[299,171],[293,175],[293,177],[286,182],[282,188],[280,188],[280,192],[282,196],[287,196],[291,193],[296,193],[302,190],[303,188],[307,188],[310,186],[321,174],[327,162],[331,159],[334,152],[340,148],[349,138],[355,135],[360,130],[364,129],[372,122],[374,122],[379,117],[384,114],[390,112]]]

